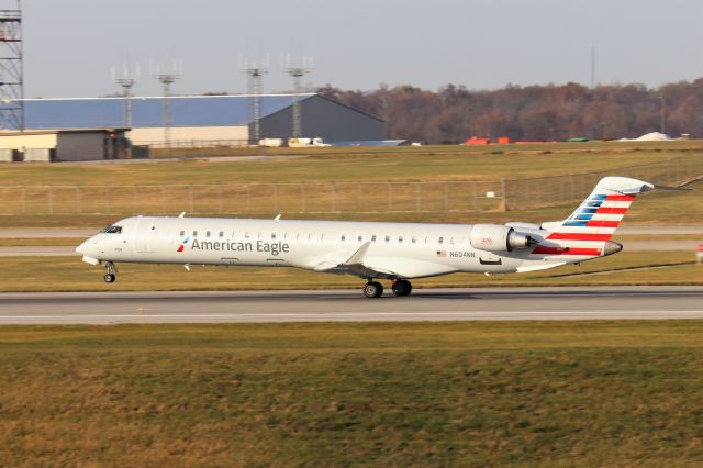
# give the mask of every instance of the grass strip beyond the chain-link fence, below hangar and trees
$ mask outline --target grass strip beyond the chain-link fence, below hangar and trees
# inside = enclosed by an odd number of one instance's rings
[[[250,149],[249,149],[250,152]],[[294,149],[303,158],[182,159],[140,164],[2,164],[16,186],[133,186],[300,181],[487,180],[559,176],[646,165],[703,152],[703,142]],[[548,171],[545,170],[548,168]],[[10,183],[8,183],[10,185]]]

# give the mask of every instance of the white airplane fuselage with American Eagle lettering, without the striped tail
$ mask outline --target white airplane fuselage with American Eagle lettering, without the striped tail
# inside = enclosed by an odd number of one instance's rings
[[[532,248],[486,252],[471,246],[473,226],[461,224],[134,216],[115,225],[121,232],[97,234],[77,252],[112,263],[289,266],[348,274],[337,266],[368,244],[364,265],[386,278],[537,270],[594,257],[534,255]],[[521,231],[544,241],[545,231]]]

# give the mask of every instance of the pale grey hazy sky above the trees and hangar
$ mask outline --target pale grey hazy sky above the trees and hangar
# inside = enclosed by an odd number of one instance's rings
[[[0,8],[12,3],[0,0]],[[239,57],[268,56],[265,92],[292,88],[282,54],[310,56],[309,86],[436,90],[703,76],[700,0],[24,0],[25,97],[97,97],[111,70],[182,60],[179,94],[246,92]],[[152,66],[149,66],[152,64]]]

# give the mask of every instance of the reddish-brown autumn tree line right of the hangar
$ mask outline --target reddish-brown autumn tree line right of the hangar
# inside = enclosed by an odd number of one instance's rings
[[[386,121],[387,137],[461,143],[468,137],[511,141],[633,138],[665,130],[670,136],[703,137],[703,78],[657,89],[644,85],[578,83],[437,91],[380,86],[372,91],[330,85],[320,94]]]

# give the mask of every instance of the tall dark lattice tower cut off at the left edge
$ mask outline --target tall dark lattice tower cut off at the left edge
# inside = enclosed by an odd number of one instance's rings
[[[24,63],[21,0],[0,1],[0,125],[24,130]]]

